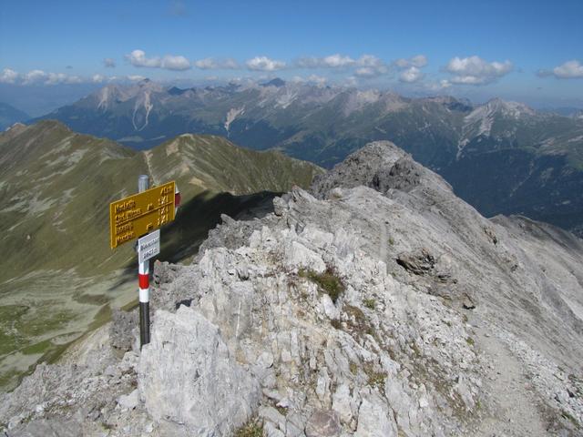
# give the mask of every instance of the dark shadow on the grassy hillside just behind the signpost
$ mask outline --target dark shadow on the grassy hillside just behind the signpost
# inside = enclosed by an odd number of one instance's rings
[[[273,212],[271,199],[277,196],[281,196],[281,193],[261,191],[243,196],[210,191],[200,193],[179,208],[173,222],[160,229],[162,246],[155,259],[173,263],[191,259],[198,253],[200,244],[207,239],[209,230],[221,222],[221,214],[244,220],[261,219]],[[123,275],[110,290],[128,281],[135,281],[137,269],[138,257],[124,267]]]

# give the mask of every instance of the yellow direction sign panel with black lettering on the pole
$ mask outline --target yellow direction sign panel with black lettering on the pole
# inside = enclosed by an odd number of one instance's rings
[[[109,204],[111,249],[174,219],[174,181]]]

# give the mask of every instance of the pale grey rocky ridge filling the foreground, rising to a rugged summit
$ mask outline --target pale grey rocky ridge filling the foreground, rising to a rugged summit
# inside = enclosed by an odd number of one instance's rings
[[[568,232],[485,219],[371,143],[261,219],[223,216],[192,265],[157,263],[151,343],[138,352],[116,315],[4,395],[0,422],[11,437],[581,435],[582,261]]]

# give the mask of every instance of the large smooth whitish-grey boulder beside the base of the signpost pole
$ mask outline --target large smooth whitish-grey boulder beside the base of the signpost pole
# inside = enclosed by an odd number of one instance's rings
[[[183,423],[189,435],[240,427],[256,408],[259,383],[234,361],[219,330],[199,312],[157,311],[139,361],[139,391],[156,420]]]

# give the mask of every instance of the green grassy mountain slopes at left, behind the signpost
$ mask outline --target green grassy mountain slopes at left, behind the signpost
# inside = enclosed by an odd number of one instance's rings
[[[136,298],[132,244],[109,249],[109,202],[176,180],[183,199],[162,229],[158,259],[196,253],[220,214],[231,217],[322,172],[279,152],[223,137],[182,135],[146,152],[71,131],[56,121],[0,133],[0,387],[50,359],[108,304]],[[125,276],[128,274],[128,276]],[[127,287],[121,287],[128,279]]]

